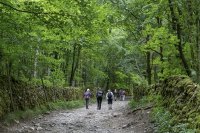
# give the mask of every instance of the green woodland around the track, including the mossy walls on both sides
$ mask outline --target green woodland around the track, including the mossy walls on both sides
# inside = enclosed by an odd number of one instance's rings
[[[132,104],[155,102],[154,121],[167,115],[162,121],[171,127],[158,132],[200,131],[199,5],[0,0],[0,118],[78,100],[86,88],[123,88]]]

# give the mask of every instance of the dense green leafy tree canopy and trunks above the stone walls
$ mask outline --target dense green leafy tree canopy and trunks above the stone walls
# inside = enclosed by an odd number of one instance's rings
[[[129,88],[173,74],[198,81],[198,4],[0,1],[1,73],[55,86]]]

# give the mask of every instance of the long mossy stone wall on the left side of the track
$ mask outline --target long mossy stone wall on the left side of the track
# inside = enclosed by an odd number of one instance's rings
[[[22,81],[0,76],[0,118],[9,112],[34,108],[47,102],[78,100],[82,95],[80,88],[30,86]]]

